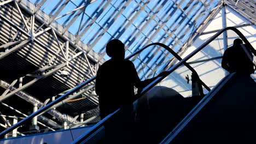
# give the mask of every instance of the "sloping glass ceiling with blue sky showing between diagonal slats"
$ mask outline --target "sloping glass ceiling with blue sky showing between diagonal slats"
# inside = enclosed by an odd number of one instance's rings
[[[30,0],[41,5],[51,22],[63,26],[78,41],[95,51],[101,59],[109,59],[104,50],[107,41],[120,39],[126,46],[126,56],[151,43],[164,43],[178,51],[188,41],[219,1],[104,1],[104,0]],[[172,55],[162,49],[153,49],[133,61],[137,69],[154,71]],[[151,57],[154,55],[154,57]],[[142,63],[149,63],[143,66]],[[148,73],[149,74],[149,73]],[[143,74],[139,74],[142,78]],[[147,77],[147,76],[146,76]]]

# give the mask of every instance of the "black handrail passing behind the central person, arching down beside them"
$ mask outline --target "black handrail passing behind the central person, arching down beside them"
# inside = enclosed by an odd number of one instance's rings
[[[165,45],[165,44],[161,44],[161,43],[152,43],[152,44],[149,44],[149,45],[143,47],[142,49],[140,49],[140,50],[134,52],[132,55],[126,57],[125,59],[129,59],[129,58],[131,58],[131,57],[137,55],[139,52],[141,52],[141,51],[147,49],[147,47],[152,46],[152,45],[159,45],[159,46],[162,46],[162,47],[164,47],[167,51],[169,51],[174,57],[176,57],[179,61],[182,60],[182,58],[179,57],[179,56],[177,55],[177,53],[174,52],[170,47],[168,47],[168,46]],[[188,69],[190,69],[191,71],[193,71],[194,74],[197,75],[196,71],[195,71],[189,64],[187,64],[186,62],[183,62],[183,63],[184,63],[184,65],[185,65],[186,67],[188,67]],[[198,75],[197,75],[197,77],[198,77]],[[66,98],[67,98],[69,95],[71,95],[73,92],[78,91],[78,89],[84,87],[85,85],[88,85],[90,82],[94,81],[95,79],[96,79],[96,76],[94,76],[94,77],[92,77],[91,79],[89,79],[89,80],[87,80],[87,81],[81,83],[81,84],[78,85],[77,87],[74,87],[71,91],[68,91],[67,93],[63,94],[61,97],[57,98],[56,100],[52,101],[51,103],[45,105],[44,107],[42,107],[42,108],[39,109],[38,111],[36,111],[36,112],[32,113],[31,115],[29,115],[28,117],[22,119],[22,120],[19,121],[18,123],[12,125],[10,128],[8,128],[8,129],[2,131],[2,133],[0,133],[0,137],[2,137],[3,135],[9,133],[11,130],[14,130],[15,128],[18,128],[21,124],[24,124],[25,122],[30,121],[32,118],[36,117],[37,115],[40,115],[40,113],[43,113],[44,111],[48,110],[51,106],[53,106],[53,105],[59,103],[60,101],[66,99]],[[201,80],[199,79],[199,77],[198,77],[198,80],[201,81]],[[204,87],[206,87],[206,88],[208,89],[208,91],[211,90],[208,86],[205,85],[205,83],[203,83],[202,81],[201,81],[201,83],[202,83],[202,85],[203,85]]]

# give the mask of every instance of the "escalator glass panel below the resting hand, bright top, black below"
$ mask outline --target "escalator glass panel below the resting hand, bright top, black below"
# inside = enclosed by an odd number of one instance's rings
[[[141,134],[136,140],[159,143],[201,100],[187,75],[191,71],[181,65],[136,101],[132,133]]]

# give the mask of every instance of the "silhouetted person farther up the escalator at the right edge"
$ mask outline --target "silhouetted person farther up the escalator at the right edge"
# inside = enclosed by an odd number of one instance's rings
[[[249,57],[241,45],[247,50]],[[229,73],[253,74],[254,65],[252,59],[253,55],[248,46],[244,45],[241,39],[235,39],[233,45],[224,52],[222,68],[229,71]]]

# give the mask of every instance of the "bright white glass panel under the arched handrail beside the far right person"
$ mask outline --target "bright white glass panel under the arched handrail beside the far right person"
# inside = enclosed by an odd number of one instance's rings
[[[200,45],[203,41],[196,43]],[[221,65],[223,52],[222,34],[187,61],[197,71],[200,79],[210,88],[214,87],[226,75]]]

